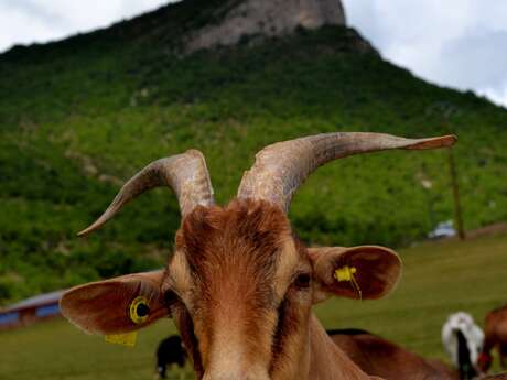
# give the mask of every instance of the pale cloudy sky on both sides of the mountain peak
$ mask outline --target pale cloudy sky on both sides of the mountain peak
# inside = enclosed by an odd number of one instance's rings
[[[0,0],[0,52],[105,28],[168,0]],[[507,0],[343,0],[388,61],[507,107]]]

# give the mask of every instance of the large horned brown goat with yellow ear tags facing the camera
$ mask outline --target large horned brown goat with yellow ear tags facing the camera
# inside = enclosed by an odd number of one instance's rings
[[[375,246],[306,249],[287,217],[292,195],[332,160],[454,141],[328,133],[277,143],[257,154],[226,207],[214,203],[198,151],[157,161],[80,235],[101,227],[144,191],[169,186],[182,224],[168,267],[75,287],[63,296],[62,313],[86,332],[105,335],[172,316],[197,379],[370,379],[330,339],[311,307],[332,295],[382,297],[399,279],[399,257]],[[143,307],[132,318],[137,305]]]

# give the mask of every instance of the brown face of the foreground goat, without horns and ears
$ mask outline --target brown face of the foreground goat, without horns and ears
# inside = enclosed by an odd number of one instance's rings
[[[205,379],[269,379],[304,361],[311,275],[284,214],[237,200],[184,219],[162,293]]]

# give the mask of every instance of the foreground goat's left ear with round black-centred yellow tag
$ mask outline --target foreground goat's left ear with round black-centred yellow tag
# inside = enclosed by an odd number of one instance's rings
[[[76,286],[64,293],[60,308],[90,334],[132,332],[169,315],[160,292],[163,276],[160,270]]]

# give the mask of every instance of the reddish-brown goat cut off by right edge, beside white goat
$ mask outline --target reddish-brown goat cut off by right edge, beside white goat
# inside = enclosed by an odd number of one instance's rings
[[[478,366],[487,372],[492,366],[492,349],[497,348],[503,369],[507,369],[507,305],[486,314],[484,323],[484,346],[478,358]]]

